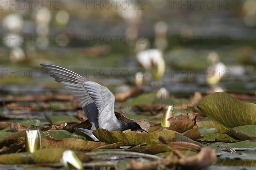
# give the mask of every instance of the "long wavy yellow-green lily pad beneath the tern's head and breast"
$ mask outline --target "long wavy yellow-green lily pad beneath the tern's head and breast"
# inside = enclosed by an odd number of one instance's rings
[[[138,145],[144,142],[147,144],[161,144],[161,142],[158,140],[159,136],[163,136],[166,141],[175,141],[175,131],[173,130],[157,130],[152,133],[145,134],[134,131],[123,133],[121,131],[109,132],[105,129],[97,129],[93,131],[93,134],[99,139],[99,141],[108,144],[117,142],[125,142],[126,145]]]

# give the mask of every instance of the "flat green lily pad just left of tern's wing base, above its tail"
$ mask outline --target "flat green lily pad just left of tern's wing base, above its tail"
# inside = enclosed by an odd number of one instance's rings
[[[81,121],[73,116],[45,116],[48,122],[50,122],[52,125],[58,125],[64,124],[66,122],[78,122]]]

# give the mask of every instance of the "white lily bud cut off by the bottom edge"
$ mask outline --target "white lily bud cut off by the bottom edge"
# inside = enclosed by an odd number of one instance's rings
[[[82,170],[84,166],[79,157],[72,150],[65,150],[62,153],[61,164],[67,169]]]

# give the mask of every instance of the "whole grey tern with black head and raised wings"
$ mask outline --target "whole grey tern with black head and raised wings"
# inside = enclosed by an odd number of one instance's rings
[[[98,139],[93,135],[93,130],[102,128],[108,131],[131,131],[143,130],[136,122],[123,122],[118,120],[114,113],[115,97],[109,89],[96,82],[74,73],[73,71],[51,64],[41,64],[55,81],[64,85],[80,103],[89,122],[92,124],[90,130],[76,128],[84,134],[90,136],[93,140]]]

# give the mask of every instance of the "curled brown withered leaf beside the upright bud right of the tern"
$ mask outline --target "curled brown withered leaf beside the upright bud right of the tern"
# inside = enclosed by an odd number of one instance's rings
[[[180,114],[178,116],[178,121],[174,117],[170,117],[168,119],[168,121],[170,122],[169,130],[183,133],[186,130],[192,129],[196,125],[197,117],[197,113],[189,113],[187,115]]]

